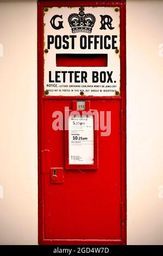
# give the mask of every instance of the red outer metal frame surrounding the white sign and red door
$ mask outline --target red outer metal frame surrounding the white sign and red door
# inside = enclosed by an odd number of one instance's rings
[[[52,6],[114,6],[120,7],[121,96],[43,96],[43,8]],[[125,245],[127,241],[126,192],[126,1],[39,1],[38,7],[38,180],[39,180],[39,244],[41,245]],[[45,239],[43,209],[43,101],[45,100],[120,100],[121,101],[121,240]]]

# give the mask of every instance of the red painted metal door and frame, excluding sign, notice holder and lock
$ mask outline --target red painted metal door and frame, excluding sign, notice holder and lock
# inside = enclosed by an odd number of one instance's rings
[[[121,8],[121,96],[43,96],[43,7]],[[111,135],[98,136],[98,169],[65,169],[64,131],[52,129],[52,113],[72,109],[72,100],[111,111]],[[100,131],[99,131],[100,132]],[[39,243],[126,244],[126,5],[125,1],[38,3]],[[51,168],[64,168],[64,182],[52,184]]]

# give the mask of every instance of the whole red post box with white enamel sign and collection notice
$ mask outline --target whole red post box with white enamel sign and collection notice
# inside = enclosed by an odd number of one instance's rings
[[[126,244],[126,2],[38,2],[39,243]]]

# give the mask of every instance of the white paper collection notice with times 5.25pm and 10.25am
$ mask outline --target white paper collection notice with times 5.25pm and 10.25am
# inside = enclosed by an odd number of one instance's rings
[[[69,164],[94,163],[92,115],[70,115],[68,120]]]

